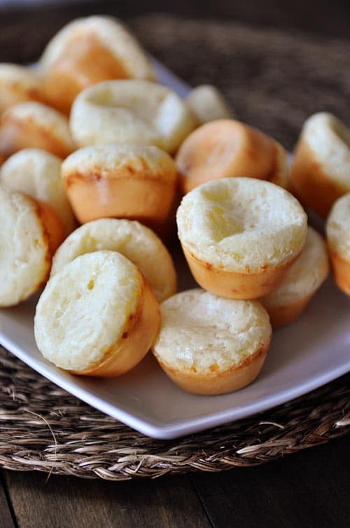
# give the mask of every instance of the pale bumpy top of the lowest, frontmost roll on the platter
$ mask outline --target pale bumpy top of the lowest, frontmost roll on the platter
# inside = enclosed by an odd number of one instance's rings
[[[257,301],[223,299],[195,289],[170,297],[160,311],[153,353],[176,370],[219,374],[269,343],[269,316]]]

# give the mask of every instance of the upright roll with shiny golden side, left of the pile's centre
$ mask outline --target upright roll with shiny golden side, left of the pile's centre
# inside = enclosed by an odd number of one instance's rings
[[[64,188],[82,224],[119,217],[157,230],[172,208],[176,179],[174,161],[158,147],[85,147],[62,163]]]

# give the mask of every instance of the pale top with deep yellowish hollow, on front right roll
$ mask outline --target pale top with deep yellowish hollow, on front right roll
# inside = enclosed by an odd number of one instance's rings
[[[184,196],[179,238],[197,259],[225,271],[260,271],[300,253],[307,215],[288,191],[253,178],[223,178]]]

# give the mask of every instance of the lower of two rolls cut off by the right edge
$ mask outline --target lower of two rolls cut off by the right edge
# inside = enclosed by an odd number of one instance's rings
[[[332,206],[325,229],[335,282],[350,295],[350,193]]]

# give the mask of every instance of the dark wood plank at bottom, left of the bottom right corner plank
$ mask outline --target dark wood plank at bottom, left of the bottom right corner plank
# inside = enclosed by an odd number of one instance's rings
[[[36,472],[6,474],[21,528],[211,527],[186,476],[127,482],[47,478]]]

